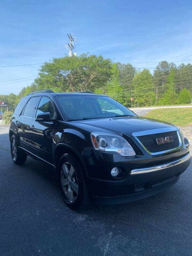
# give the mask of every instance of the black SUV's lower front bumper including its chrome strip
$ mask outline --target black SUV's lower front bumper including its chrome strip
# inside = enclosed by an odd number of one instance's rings
[[[126,179],[101,180],[88,178],[93,201],[100,204],[120,204],[154,195],[174,185],[190,164],[190,154],[166,164],[132,169]]]

